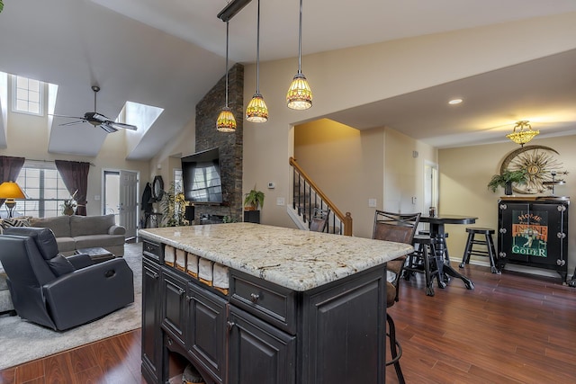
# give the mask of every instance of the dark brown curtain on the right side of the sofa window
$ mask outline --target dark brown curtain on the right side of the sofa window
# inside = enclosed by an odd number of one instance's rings
[[[76,192],[76,215],[86,216],[86,196],[88,194],[88,171],[90,163],[79,161],[55,160],[58,174],[62,177],[70,196]]]

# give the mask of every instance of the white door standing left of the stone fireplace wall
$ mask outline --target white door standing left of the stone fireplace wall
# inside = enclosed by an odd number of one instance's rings
[[[120,225],[126,228],[126,238],[136,237],[138,226],[138,172],[120,171]]]

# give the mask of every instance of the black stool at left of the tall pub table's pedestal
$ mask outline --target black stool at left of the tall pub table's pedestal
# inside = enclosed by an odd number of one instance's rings
[[[438,275],[436,262],[430,263],[430,259],[434,260],[436,252],[435,244],[436,240],[429,236],[415,235],[412,240],[414,252],[407,256],[406,264],[404,265],[405,280],[410,280],[410,272],[424,273],[427,296],[434,296],[432,282],[434,276]]]

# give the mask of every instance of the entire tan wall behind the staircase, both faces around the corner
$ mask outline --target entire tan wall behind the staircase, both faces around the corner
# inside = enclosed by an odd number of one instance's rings
[[[422,207],[424,162],[436,162],[436,152],[393,129],[358,130],[328,119],[294,129],[298,164],[339,210],[352,213],[356,237],[372,237],[374,210],[428,208]]]

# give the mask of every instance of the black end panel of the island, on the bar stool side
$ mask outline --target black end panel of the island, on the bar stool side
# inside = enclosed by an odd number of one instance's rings
[[[386,272],[354,277],[310,297],[304,383],[385,382]]]

